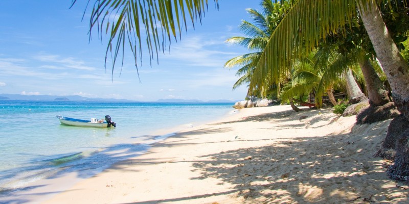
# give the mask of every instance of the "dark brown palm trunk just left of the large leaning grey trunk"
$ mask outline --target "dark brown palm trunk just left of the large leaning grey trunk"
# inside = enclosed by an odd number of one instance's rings
[[[389,103],[388,91],[383,87],[371,61],[368,59],[359,62],[359,66],[361,67],[363,78],[365,78],[365,83],[367,85],[369,105],[382,106]]]

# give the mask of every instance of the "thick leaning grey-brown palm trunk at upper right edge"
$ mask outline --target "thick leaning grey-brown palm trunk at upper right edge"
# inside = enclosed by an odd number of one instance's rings
[[[398,110],[409,120],[409,67],[382,20],[375,0],[356,0],[363,25],[392,88]]]

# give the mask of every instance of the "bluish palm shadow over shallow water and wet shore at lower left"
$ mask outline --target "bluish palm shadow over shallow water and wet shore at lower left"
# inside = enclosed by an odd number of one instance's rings
[[[95,148],[95,147],[94,147]],[[137,157],[144,154],[148,149],[147,145],[141,144],[117,144],[101,148],[100,150],[92,152],[90,155],[82,155],[83,152],[77,152],[71,156],[54,155],[49,156],[55,159],[41,160],[43,156],[37,156],[32,161],[29,169],[12,169],[8,172],[1,172],[0,180],[7,181],[13,176],[18,176],[18,179],[38,180],[38,177],[43,179],[57,179],[66,174],[76,172],[79,179],[86,179],[91,177],[108,166],[123,160]],[[26,171],[35,172],[35,174],[27,174]],[[2,186],[5,184],[2,184]],[[13,184],[11,184],[13,185]],[[27,196],[48,196],[59,191],[49,191],[41,193],[30,193],[31,190],[42,188],[46,185],[31,184],[28,186],[17,187],[13,189],[0,188],[0,203],[27,203],[30,200]]]

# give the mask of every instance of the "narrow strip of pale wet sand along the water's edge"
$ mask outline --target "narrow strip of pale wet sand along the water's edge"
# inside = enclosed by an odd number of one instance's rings
[[[235,114],[233,112],[237,112],[237,110],[233,109],[232,111],[226,112],[223,116],[217,117],[217,120],[231,117],[232,115]],[[131,154],[133,155],[132,157],[139,157],[145,154],[147,150],[151,148],[151,145],[154,143],[166,140],[167,138],[175,135],[177,132],[186,131],[188,129],[193,128],[194,126],[204,125],[210,122],[211,120],[193,120],[190,121],[189,123],[165,127],[164,129],[153,130],[149,134],[138,137],[146,138],[144,142],[140,142],[138,140],[135,141],[135,138],[132,137],[124,139],[122,142],[123,144],[128,144],[136,147],[132,148],[132,150],[141,149],[138,150],[138,152],[135,151],[131,152]],[[118,145],[121,144],[113,144],[112,146],[100,148],[97,154],[101,154],[101,152],[107,148],[113,147],[115,149],[115,147]],[[43,201],[50,199],[55,194],[68,190],[76,183],[82,180],[89,179],[89,177],[101,173],[105,169],[111,167],[115,163],[121,162],[122,160],[116,161],[110,165],[104,165],[96,169],[91,169],[91,171],[85,173],[79,173],[78,171],[61,173],[60,171],[64,170],[60,169],[55,170],[55,173],[47,173],[50,175],[47,177],[42,177],[40,179],[37,179],[35,175],[33,176],[34,181],[28,184],[24,184],[16,189],[6,189],[4,191],[0,191],[0,203],[21,203],[21,202],[42,203]]]

